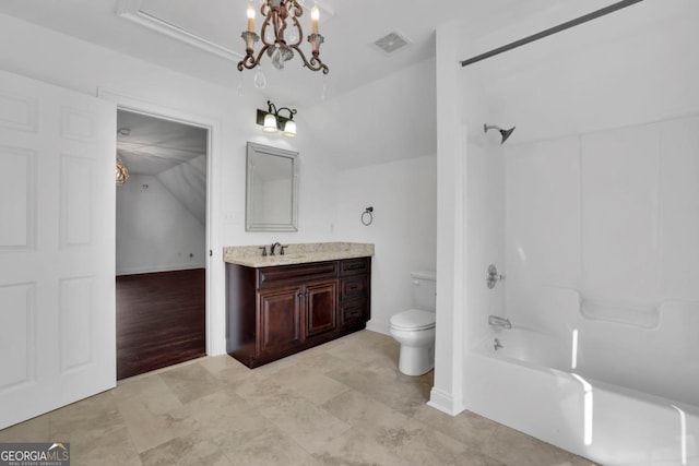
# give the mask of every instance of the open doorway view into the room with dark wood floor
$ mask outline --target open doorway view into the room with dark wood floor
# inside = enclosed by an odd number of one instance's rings
[[[206,354],[208,147],[205,128],[117,111],[118,380]]]

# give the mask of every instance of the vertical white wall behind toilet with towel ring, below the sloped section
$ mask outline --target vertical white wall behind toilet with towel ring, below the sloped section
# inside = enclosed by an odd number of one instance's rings
[[[434,155],[340,172],[337,238],[375,244],[370,330],[388,334],[391,315],[413,307],[411,272],[436,268],[436,205]]]

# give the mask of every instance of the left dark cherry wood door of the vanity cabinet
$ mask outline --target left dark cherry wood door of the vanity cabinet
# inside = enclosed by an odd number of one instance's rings
[[[259,295],[258,354],[272,356],[304,340],[301,334],[301,289],[289,287]]]

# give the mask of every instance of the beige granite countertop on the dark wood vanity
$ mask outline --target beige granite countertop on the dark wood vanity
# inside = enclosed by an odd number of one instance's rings
[[[271,267],[374,255],[374,244],[362,242],[305,242],[284,246],[284,255],[280,255],[277,247],[275,255],[266,256],[262,256],[262,246],[232,246],[223,249],[223,260],[248,267]],[[265,247],[269,254],[270,244]]]

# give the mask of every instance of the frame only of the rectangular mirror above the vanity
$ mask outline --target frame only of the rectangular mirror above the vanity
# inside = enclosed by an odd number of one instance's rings
[[[246,186],[246,215],[245,215],[245,230],[246,231],[298,231],[298,152],[286,151],[283,148],[271,147],[253,142],[247,144],[247,186]],[[254,157],[270,156],[270,157],[283,157],[291,163],[291,203],[289,203],[289,216],[288,223],[274,223],[274,222],[259,222],[256,220],[259,216],[259,210],[262,208],[260,203],[256,203],[256,166]]]

